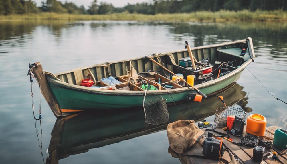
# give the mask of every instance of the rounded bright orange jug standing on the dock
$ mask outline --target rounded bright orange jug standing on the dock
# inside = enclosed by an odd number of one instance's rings
[[[251,114],[247,118],[246,132],[255,136],[264,136],[266,123],[266,118],[263,115]]]

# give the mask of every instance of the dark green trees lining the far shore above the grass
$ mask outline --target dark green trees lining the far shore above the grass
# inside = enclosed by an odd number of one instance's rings
[[[225,10],[283,10],[286,11],[287,0],[153,0],[136,4],[128,3],[124,7],[114,7],[111,3],[92,1],[86,9],[73,2],[58,0],[42,1],[40,6],[33,0],[0,0],[0,15],[55,12],[69,14],[111,14],[111,13],[189,13],[194,11]]]

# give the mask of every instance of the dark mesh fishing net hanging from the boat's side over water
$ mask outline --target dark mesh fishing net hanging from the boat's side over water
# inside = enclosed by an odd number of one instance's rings
[[[168,121],[169,114],[166,106],[166,99],[162,96],[144,97],[144,112],[146,115],[146,123],[152,125],[160,125]]]

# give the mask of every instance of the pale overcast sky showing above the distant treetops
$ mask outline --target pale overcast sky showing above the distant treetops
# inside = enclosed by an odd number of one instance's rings
[[[34,0],[37,5],[39,6],[41,4],[41,1],[46,1],[46,0]],[[62,2],[65,2],[65,0],[60,0]],[[88,7],[93,0],[67,0],[68,2],[73,2],[76,5],[84,5],[85,7]],[[108,2],[112,3],[115,7],[123,7],[127,3],[137,3],[137,2],[150,2],[152,0],[98,0],[99,2]]]

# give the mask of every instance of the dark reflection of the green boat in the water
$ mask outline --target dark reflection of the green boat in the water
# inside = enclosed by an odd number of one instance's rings
[[[248,97],[243,87],[233,83],[229,88],[217,95],[222,95],[227,106],[238,104],[245,108]],[[170,122],[181,119],[203,120],[214,114],[216,108],[223,103],[216,96],[203,99],[201,102],[177,102],[168,106],[169,120],[162,125],[145,123],[144,109],[119,110],[117,114],[109,113],[79,113],[58,118],[51,132],[49,157],[46,163],[56,164],[69,155],[88,152],[89,149],[103,147],[123,140],[166,130]],[[165,150],[164,150],[165,151]]]

